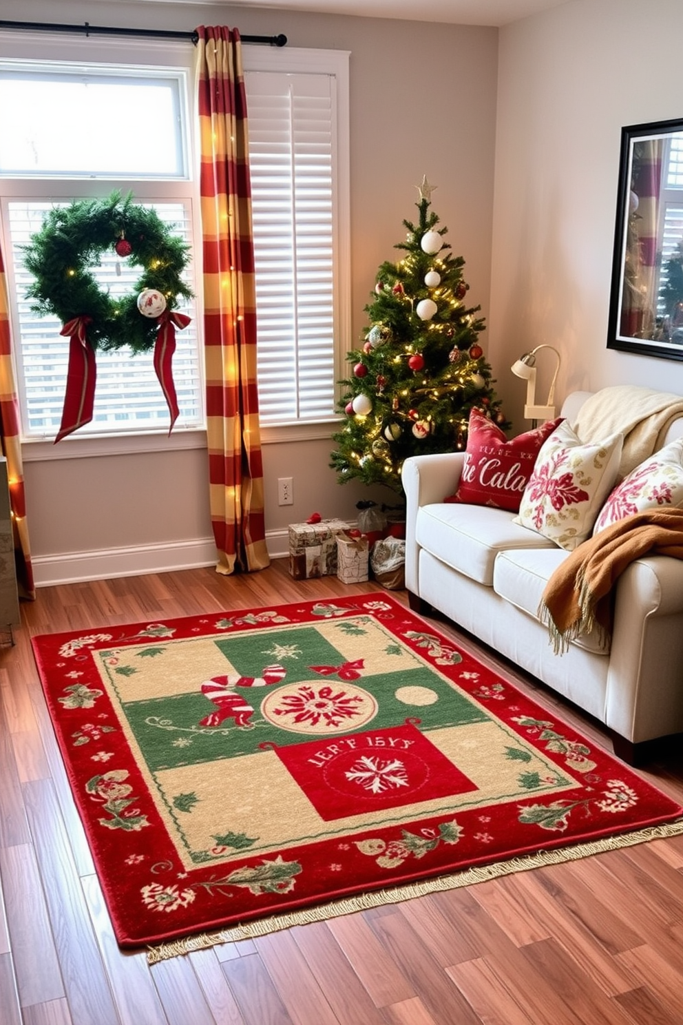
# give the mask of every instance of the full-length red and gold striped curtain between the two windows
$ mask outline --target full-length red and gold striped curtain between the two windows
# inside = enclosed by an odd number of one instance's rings
[[[240,33],[197,29],[211,522],[219,573],[269,564],[256,389],[256,287]]]

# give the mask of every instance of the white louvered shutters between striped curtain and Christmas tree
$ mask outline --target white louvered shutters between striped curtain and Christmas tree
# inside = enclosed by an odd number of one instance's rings
[[[264,425],[335,414],[340,324],[337,78],[246,72]]]

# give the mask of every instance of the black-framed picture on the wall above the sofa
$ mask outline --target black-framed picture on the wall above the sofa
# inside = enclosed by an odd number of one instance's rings
[[[607,348],[683,360],[683,118],[622,129]]]

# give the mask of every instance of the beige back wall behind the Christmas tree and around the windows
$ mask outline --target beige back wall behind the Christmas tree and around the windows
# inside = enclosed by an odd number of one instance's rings
[[[432,208],[466,260],[473,301],[488,313],[496,134],[498,31],[404,20],[340,17],[278,10],[183,4],[67,0],[3,0],[15,20],[191,30],[236,25],[243,33],[285,33],[291,46],[349,50],[351,120],[351,274],[353,337],[366,326],[379,264],[402,241],[403,218],[417,215],[415,186],[437,184]],[[484,335],[486,344],[486,335]],[[67,442],[61,442],[65,445]],[[355,483],[339,487],[329,468],[329,441],[264,449],[266,530],[282,548],[287,524],[318,510],[355,515],[367,496]],[[56,455],[56,453],[55,453]],[[213,558],[206,455],[161,451],[27,462],[31,540],[39,580],[114,575],[131,563],[154,567]],[[275,481],[294,478],[293,506],[276,505]],[[379,496],[379,493],[375,493]],[[384,498],[393,502],[391,493]],[[202,546],[202,541],[204,545]],[[130,550],[129,550],[130,549]],[[63,558],[68,556],[68,558]],[[128,570],[130,571],[130,570]]]

